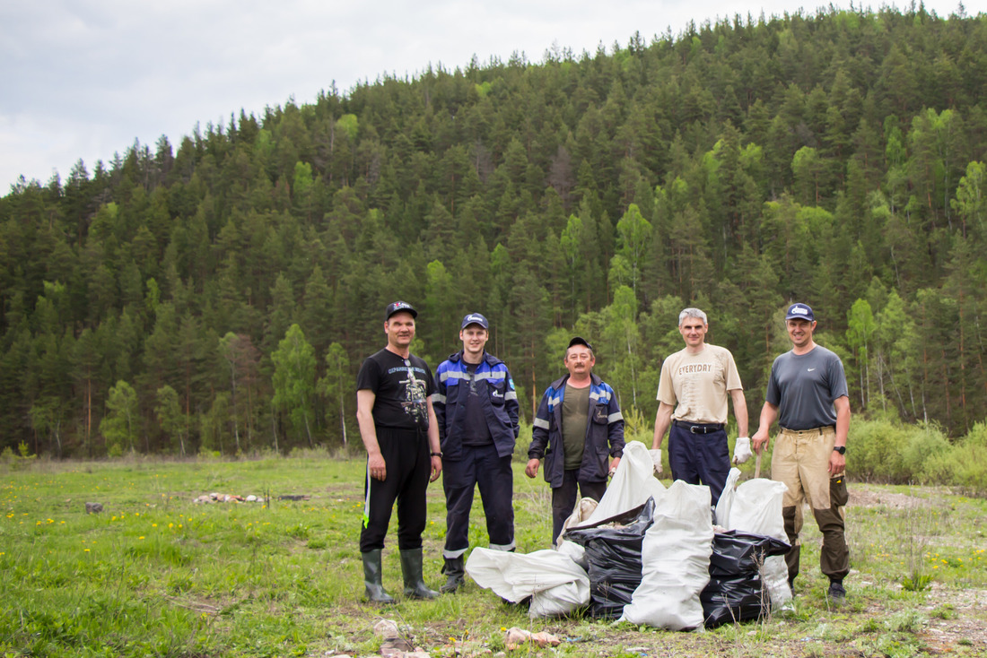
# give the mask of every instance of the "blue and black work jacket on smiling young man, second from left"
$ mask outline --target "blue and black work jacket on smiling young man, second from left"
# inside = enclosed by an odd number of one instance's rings
[[[477,392],[493,446],[500,457],[513,454],[517,442],[517,392],[514,380],[503,361],[484,351],[484,358],[474,373]],[[449,355],[435,371],[432,406],[438,420],[438,439],[443,459],[462,459],[461,437],[466,423],[466,397],[469,395],[469,372],[463,352]]]

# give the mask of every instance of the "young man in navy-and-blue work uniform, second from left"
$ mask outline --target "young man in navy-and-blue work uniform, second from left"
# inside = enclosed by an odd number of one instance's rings
[[[475,486],[480,486],[490,548],[514,549],[510,458],[518,432],[517,393],[507,366],[486,350],[489,337],[487,318],[469,314],[459,330],[463,349],[435,371],[432,406],[442,447],[446,507],[442,592],[455,592],[463,583]]]

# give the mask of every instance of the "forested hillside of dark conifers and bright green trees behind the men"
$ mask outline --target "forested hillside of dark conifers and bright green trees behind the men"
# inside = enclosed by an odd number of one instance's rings
[[[358,442],[355,371],[399,298],[433,368],[486,314],[529,418],[586,336],[645,425],[683,306],[756,414],[803,301],[855,412],[964,434],[987,414],[985,94],[983,14],[737,17],[383,77],[22,181],[0,448],[285,451],[339,445],[341,414]]]

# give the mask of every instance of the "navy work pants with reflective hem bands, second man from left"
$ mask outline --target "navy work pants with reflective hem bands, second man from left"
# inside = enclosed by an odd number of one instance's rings
[[[510,455],[499,457],[496,447],[463,446],[462,459],[444,460],[442,488],[445,489],[445,549],[442,556],[459,557],[470,548],[470,508],[473,490],[480,487],[480,499],[487,517],[490,548],[514,548],[514,472]]]

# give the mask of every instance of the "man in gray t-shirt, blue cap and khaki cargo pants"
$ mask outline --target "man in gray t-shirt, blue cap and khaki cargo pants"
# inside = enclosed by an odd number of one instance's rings
[[[771,425],[781,432],[771,456],[773,479],[785,482],[782,502],[785,532],[791,550],[785,559],[789,584],[798,575],[802,503],[808,502],[822,533],[819,563],[829,577],[828,595],[836,603],[846,597],[843,578],[850,571],[850,550],[844,535],[843,506],[850,398],[840,357],[815,343],[815,316],[805,304],[793,304],[785,317],[792,351],[775,359],[760,426],[751,437],[760,454],[769,441]]]

